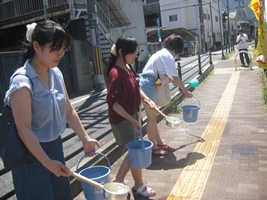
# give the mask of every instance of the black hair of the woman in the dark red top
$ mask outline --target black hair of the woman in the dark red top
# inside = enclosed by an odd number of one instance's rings
[[[109,65],[108,65],[108,70],[107,70],[107,77],[109,76],[110,70],[112,69],[112,67],[116,63],[117,55],[119,55],[119,49],[121,49],[122,57],[123,57],[123,60],[125,62],[125,56],[127,54],[136,52],[138,44],[137,44],[137,41],[135,40],[135,38],[121,36],[117,39],[115,46],[116,46],[116,56],[113,55],[112,53],[110,53]],[[126,62],[125,62],[125,64],[126,64]],[[130,65],[130,67],[132,69],[131,65]]]

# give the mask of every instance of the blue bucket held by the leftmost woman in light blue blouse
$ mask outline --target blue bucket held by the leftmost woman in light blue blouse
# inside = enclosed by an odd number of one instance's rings
[[[109,174],[110,174],[110,162],[108,158],[100,153],[100,152],[95,152],[96,154],[102,155],[106,158],[108,162],[108,166],[92,166],[85,168],[79,172],[80,175],[85,176],[86,178],[92,179],[102,185],[105,183],[109,182]],[[86,157],[87,155],[85,154],[78,162],[76,171],[78,170],[78,166],[80,162]],[[103,200],[103,189],[99,187],[94,187],[93,185],[90,185],[84,181],[81,181],[82,187],[83,187],[83,192],[84,196],[87,200]]]

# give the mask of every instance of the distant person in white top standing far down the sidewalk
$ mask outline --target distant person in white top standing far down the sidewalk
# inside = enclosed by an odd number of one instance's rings
[[[238,30],[238,32],[239,32],[239,35],[236,38],[238,51],[248,51],[248,42],[249,42],[248,35],[246,33],[243,33],[242,28],[240,28]],[[247,65],[249,66],[249,64],[250,64],[250,59],[249,59],[248,53],[239,53],[241,67],[246,66],[245,61],[244,61],[244,54],[245,54]]]

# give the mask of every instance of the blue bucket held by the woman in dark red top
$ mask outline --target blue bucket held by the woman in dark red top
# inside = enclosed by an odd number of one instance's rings
[[[132,167],[142,169],[147,168],[151,165],[152,162],[152,146],[153,143],[149,140],[144,140],[142,132],[139,130],[140,139],[136,138],[135,140],[126,144],[128,149],[128,154],[130,158],[130,164]]]

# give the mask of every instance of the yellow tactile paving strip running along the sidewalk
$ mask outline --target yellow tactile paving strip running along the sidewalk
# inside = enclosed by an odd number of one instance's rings
[[[240,72],[235,72],[231,75],[222,97],[202,134],[205,142],[196,145],[193,154],[189,157],[187,167],[183,169],[167,200],[201,199],[228,120],[239,76]],[[198,158],[198,156],[202,157]]]

